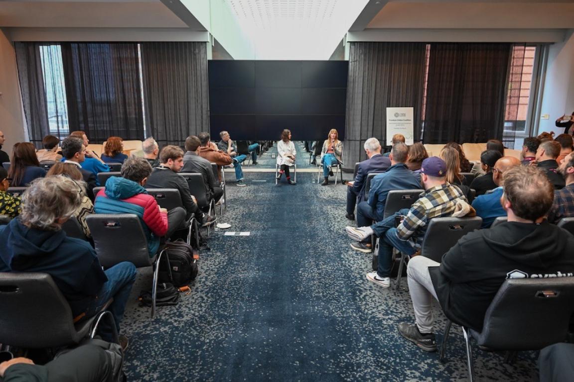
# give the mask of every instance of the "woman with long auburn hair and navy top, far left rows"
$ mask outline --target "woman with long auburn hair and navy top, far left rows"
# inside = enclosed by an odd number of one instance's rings
[[[40,167],[36,156],[36,147],[30,142],[21,142],[14,145],[12,159],[10,160],[10,186],[25,187],[36,178],[44,178],[46,170]]]

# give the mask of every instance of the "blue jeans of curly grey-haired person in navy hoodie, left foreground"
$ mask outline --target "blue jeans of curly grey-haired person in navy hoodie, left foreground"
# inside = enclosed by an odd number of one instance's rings
[[[86,308],[86,317],[95,316],[110,298],[114,298],[108,310],[114,316],[115,328],[119,332],[119,323],[122,321],[123,312],[126,310],[127,299],[130,297],[137,271],[133,263],[124,261],[108,268],[105,273],[108,281],[104,283],[98,296]],[[113,341],[112,330],[106,321],[102,321],[100,328],[102,338],[106,341]]]

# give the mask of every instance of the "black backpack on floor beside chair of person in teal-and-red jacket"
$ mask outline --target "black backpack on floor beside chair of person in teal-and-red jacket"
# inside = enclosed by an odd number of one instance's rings
[[[169,259],[169,268],[168,268]],[[199,254],[191,245],[178,239],[165,246],[165,253],[161,258],[158,282],[171,282],[180,287],[189,285],[197,277],[197,260]],[[171,271],[171,278],[169,273]]]

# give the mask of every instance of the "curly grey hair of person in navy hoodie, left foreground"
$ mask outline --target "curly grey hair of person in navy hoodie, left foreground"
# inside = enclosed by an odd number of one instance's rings
[[[20,219],[27,227],[60,230],[59,219],[69,219],[82,204],[83,189],[64,175],[38,178],[22,195]]]

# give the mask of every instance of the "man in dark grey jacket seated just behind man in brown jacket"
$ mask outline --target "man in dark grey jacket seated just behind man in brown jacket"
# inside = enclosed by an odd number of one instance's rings
[[[197,154],[201,143],[199,138],[195,135],[190,135],[185,139],[185,149],[187,150],[183,156],[183,168],[181,172],[196,172],[203,176],[203,183],[205,185],[205,196],[207,201],[214,200],[215,203],[223,196],[223,188],[220,183],[215,179],[211,163]]]

